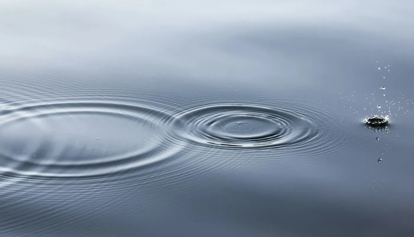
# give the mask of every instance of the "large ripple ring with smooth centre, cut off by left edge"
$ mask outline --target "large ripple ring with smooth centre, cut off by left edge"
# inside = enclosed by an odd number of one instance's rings
[[[168,112],[126,103],[68,102],[0,110],[0,172],[6,176],[87,177],[164,161]]]

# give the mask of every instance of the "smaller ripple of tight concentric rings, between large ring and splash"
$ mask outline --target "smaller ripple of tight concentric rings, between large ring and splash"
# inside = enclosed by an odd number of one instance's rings
[[[184,110],[174,125],[177,136],[202,147],[241,149],[257,155],[270,149],[320,154],[334,150],[340,142],[332,132],[338,127],[334,122],[338,118],[306,103],[274,107],[218,103]]]

